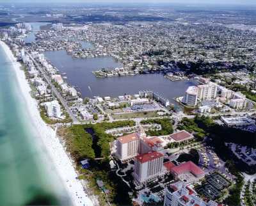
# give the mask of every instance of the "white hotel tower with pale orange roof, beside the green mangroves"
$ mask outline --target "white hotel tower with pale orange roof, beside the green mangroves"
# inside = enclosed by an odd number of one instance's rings
[[[127,161],[138,155],[139,139],[137,133],[116,139],[116,156],[120,161]]]

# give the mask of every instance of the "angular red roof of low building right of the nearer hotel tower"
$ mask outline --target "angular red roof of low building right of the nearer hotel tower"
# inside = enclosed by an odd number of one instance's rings
[[[175,166],[171,169],[172,172],[177,173],[177,175],[180,175],[182,173],[190,172],[195,176],[203,175],[204,171],[201,170],[198,166],[196,166],[193,162],[185,162],[183,164],[180,164],[178,166]]]

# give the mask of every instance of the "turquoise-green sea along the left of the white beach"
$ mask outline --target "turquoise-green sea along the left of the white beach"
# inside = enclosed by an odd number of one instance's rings
[[[0,46],[0,205],[69,205]]]

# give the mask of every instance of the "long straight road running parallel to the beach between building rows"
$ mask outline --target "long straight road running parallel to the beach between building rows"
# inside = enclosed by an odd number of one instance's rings
[[[47,81],[47,83],[51,86],[51,90],[52,93],[54,93],[54,95],[58,98],[58,100],[60,100],[61,104],[63,105],[63,107],[65,107],[68,115],[70,116],[70,118],[72,119],[73,123],[79,123],[79,120],[77,120],[76,116],[74,115],[74,113],[72,113],[71,109],[68,107],[66,100],[62,97],[61,93],[56,89],[56,87],[52,84],[50,77],[44,72],[44,70],[42,70],[42,67],[37,63],[37,61],[31,56],[31,54],[29,54],[28,51],[26,51],[26,54],[28,54],[29,58],[31,58],[31,60],[33,61],[33,63],[35,64],[35,66],[38,68],[38,70],[42,73],[42,75],[44,75],[44,79]]]

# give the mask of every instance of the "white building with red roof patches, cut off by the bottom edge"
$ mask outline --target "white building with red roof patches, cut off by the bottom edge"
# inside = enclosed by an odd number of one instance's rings
[[[204,202],[196,191],[179,181],[165,187],[164,206],[218,206],[218,203]]]

